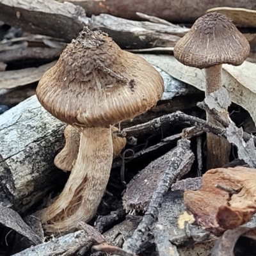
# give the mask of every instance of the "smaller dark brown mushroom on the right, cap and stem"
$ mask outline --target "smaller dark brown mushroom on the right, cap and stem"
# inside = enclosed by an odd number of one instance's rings
[[[182,64],[205,68],[206,97],[222,86],[222,64],[241,65],[250,54],[250,44],[226,15],[207,13],[195,21],[189,32],[174,47],[174,56]],[[229,120],[225,109],[220,115]],[[218,124],[207,115],[207,121]],[[220,124],[218,124],[220,125]],[[207,133],[207,168],[228,163],[230,144]]]

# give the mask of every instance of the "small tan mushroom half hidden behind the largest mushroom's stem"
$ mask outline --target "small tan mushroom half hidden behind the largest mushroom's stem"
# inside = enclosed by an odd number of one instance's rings
[[[112,140],[113,140],[113,158],[117,157],[122,149],[125,147],[126,139],[118,137],[115,131],[118,128],[111,126],[112,129]],[[77,159],[79,150],[80,133],[72,125],[67,125],[64,130],[64,137],[66,140],[65,147],[61,152],[54,158],[54,164],[57,168],[70,172],[73,168],[73,164]]]

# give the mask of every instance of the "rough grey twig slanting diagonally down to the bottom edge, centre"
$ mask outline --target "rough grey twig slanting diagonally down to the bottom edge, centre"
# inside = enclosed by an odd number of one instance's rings
[[[150,201],[148,209],[143,216],[143,220],[134,231],[133,236],[125,241],[123,245],[123,249],[126,252],[140,252],[141,245],[148,239],[148,232],[150,231],[150,228],[157,221],[164,194],[168,191],[175,180],[179,179],[184,175],[184,173],[190,170],[194,156],[189,146],[190,142],[186,139],[178,141],[177,147],[172,152],[170,165],[166,166],[166,171],[161,179],[159,179],[159,183],[152,195],[152,200]]]

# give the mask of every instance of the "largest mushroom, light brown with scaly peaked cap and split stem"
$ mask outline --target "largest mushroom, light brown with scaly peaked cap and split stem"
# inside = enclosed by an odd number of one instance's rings
[[[58,199],[41,215],[47,233],[72,232],[90,221],[106,189],[113,158],[111,124],[148,111],[164,86],[157,70],[84,28],[40,79],[36,95],[53,116],[80,132],[79,152]]]

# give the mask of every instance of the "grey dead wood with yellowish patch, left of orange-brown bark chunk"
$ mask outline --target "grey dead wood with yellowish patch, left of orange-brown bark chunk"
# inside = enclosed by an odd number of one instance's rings
[[[209,255],[214,244],[210,241],[213,236],[203,228],[191,225],[192,222],[183,203],[183,193],[168,191],[152,229],[159,256]]]

